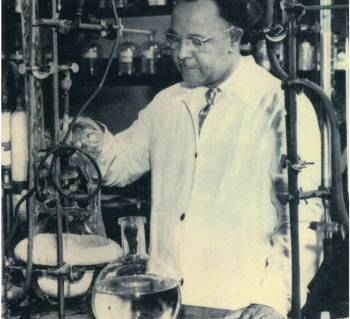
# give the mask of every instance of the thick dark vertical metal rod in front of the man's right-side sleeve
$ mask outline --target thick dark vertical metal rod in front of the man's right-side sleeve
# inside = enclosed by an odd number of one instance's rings
[[[294,2],[294,1],[293,1]],[[289,77],[291,80],[297,78],[296,70],[296,17],[294,13],[288,14],[289,29],[286,50],[286,59]],[[297,143],[297,100],[296,89],[288,87],[285,90],[286,106],[286,131],[287,131],[287,155],[291,164],[298,163]],[[298,171],[288,169],[289,193],[294,197],[289,202],[290,235],[292,249],[292,319],[301,319],[300,305],[300,253],[299,253],[299,190]]]

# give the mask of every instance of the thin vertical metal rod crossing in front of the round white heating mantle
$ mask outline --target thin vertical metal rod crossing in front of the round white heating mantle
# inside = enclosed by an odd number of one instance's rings
[[[52,19],[57,18],[57,2],[52,0]],[[59,118],[59,82],[58,82],[58,40],[57,40],[57,29],[52,29],[52,44],[53,44],[53,65],[55,73],[53,74],[53,105],[54,105],[54,143],[59,143],[59,131],[60,131],[60,118]],[[59,161],[56,165],[56,180],[59,180]],[[63,225],[62,225],[62,212],[60,205],[60,195],[56,191],[56,216],[57,216],[57,266],[62,267],[63,261]],[[59,319],[65,318],[65,300],[64,300],[64,276],[58,275],[58,302],[59,302]]]

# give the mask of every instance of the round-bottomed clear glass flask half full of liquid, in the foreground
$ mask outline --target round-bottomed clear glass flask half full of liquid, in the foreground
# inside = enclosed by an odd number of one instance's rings
[[[119,219],[123,256],[105,267],[92,291],[97,319],[175,319],[180,288],[169,268],[146,253],[146,218]]]

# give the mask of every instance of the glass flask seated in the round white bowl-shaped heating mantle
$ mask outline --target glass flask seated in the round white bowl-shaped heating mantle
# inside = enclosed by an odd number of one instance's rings
[[[74,129],[73,129],[74,131]],[[90,133],[91,134],[91,133]],[[103,265],[121,254],[120,246],[108,240],[100,206],[100,191],[95,197],[84,200],[84,191],[93,194],[97,189],[94,167],[79,151],[61,155],[60,185],[66,196],[57,201],[53,187],[46,188],[47,199],[34,216],[32,262],[41,291],[57,298],[57,205],[62,214],[63,269],[69,276],[64,280],[64,296],[76,297],[87,292],[96,265]],[[73,197],[77,199],[74,200]],[[82,196],[83,200],[79,198]],[[28,238],[16,246],[15,257],[28,261]]]

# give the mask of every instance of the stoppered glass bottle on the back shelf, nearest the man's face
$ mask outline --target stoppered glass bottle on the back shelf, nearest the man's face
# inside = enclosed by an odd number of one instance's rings
[[[154,41],[154,35],[149,36],[149,41],[141,47],[141,70],[142,73],[158,73],[157,64],[160,58],[159,43]]]

